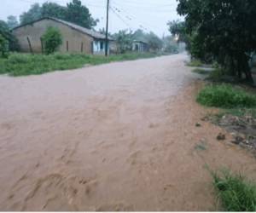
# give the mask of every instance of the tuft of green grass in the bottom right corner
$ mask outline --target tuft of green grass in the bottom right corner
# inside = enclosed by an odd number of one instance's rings
[[[256,211],[256,186],[241,175],[212,174],[213,185],[225,211]]]

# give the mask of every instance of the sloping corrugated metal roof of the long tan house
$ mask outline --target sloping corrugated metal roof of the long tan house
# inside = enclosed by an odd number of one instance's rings
[[[48,19],[48,20],[55,20],[55,21],[57,21],[57,22],[59,22],[59,23],[61,23],[61,24],[63,24],[63,25],[66,25],[66,26],[71,27],[72,29],[74,29],[74,30],[76,30],[76,31],[82,32],[82,33],[84,33],[84,34],[86,34],[86,35],[88,35],[88,36],[90,36],[90,37],[94,37],[94,38],[96,38],[96,39],[105,39],[105,35],[103,35],[103,34],[101,34],[101,33],[99,33],[99,32],[95,32],[95,31],[89,30],[89,29],[87,29],[87,28],[85,28],[85,27],[83,27],[83,26],[78,26],[78,25],[73,24],[73,23],[71,23],[71,22],[68,22],[68,21],[66,21],[66,20],[60,20],[60,19],[56,19],[56,18],[52,18],[52,17],[44,17],[44,18],[41,18],[41,19],[39,19],[39,20],[34,20],[34,21],[32,21],[32,22],[30,22],[30,23],[27,23],[27,24],[25,24],[25,25],[22,25],[22,26],[32,25],[32,24],[35,23],[35,22],[38,22],[38,21],[40,21],[40,20],[47,20],[47,19]],[[17,26],[17,27],[15,27],[13,30],[15,30],[15,29],[17,29],[17,28],[20,28],[20,27],[22,27],[22,26]],[[109,39],[109,40],[113,40],[112,37],[109,37],[108,39]]]

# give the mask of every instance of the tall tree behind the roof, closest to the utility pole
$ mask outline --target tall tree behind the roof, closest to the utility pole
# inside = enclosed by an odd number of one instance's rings
[[[88,29],[96,26],[98,22],[98,20],[94,20],[91,17],[89,9],[83,6],[80,0],[73,0],[72,3],[67,3],[66,20]]]

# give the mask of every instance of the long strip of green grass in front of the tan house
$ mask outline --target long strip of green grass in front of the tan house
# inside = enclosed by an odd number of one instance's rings
[[[110,55],[109,57],[99,55],[58,54],[55,55],[29,55],[12,54],[8,59],[0,59],[0,74],[10,76],[38,75],[56,70],[69,70],[83,67],[84,65],[99,65],[112,61],[137,60],[150,58],[156,54],[124,54]]]

